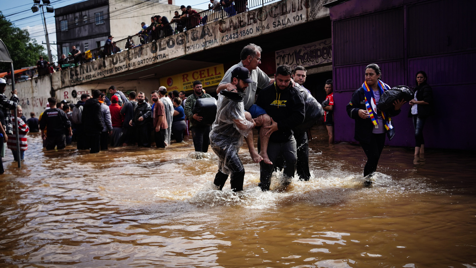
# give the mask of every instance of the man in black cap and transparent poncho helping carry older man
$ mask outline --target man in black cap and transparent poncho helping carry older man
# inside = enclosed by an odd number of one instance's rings
[[[218,172],[213,182],[221,190],[230,175],[233,192],[243,190],[245,168],[238,157],[238,150],[243,145],[243,136],[253,131],[256,123],[251,114],[245,112],[243,96],[248,83],[249,71],[244,67],[236,67],[231,72],[231,81],[236,85],[236,92],[222,90],[218,94],[217,117],[211,126],[210,145],[218,156]],[[258,155],[254,144],[248,144],[249,153]]]

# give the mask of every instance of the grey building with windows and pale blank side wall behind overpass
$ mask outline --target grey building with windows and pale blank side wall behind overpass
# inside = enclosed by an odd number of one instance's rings
[[[121,40],[150,24],[153,15],[172,18],[179,7],[159,0],[87,0],[55,9],[58,59],[72,46],[86,52],[104,46],[109,35]],[[180,11],[181,12],[181,11]]]

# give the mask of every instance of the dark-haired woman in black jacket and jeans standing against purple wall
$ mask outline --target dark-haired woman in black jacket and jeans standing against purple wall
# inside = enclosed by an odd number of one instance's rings
[[[415,155],[425,153],[423,126],[426,118],[433,113],[433,90],[428,85],[427,79],[425,72],[417,72],[415,98],[409,102],[412,108],[408,111],[408,117],[413,117],[413,126],[415,127]]]

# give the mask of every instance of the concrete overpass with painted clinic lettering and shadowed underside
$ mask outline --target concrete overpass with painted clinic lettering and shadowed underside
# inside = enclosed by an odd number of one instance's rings
[[[20,82],[17,88],[23,110],[25,114],[41,113],[52,92],[59,101],[76,103],[81,93],[90,93],[93,89],[105,91],[111,84],[123,92],[142,91],[146,96],[160,85],[187,91],[184,83],[179,86],[167,84],[167,81],[177,82],[173,76],[187,72],[191,72],[189,77],[193,80],[203,80],[207,92],[213,93],[224,73],[216,71],[212,77],[208,67],[228,70],[239,62],[239,52],[250,42],[263,48],[260,68],[268,75],[273,75],[279,64],[292,65],[297,61],[295,66],[310,67],[309,74],[327,72],[325,77],[316,78],[320,82],[313,83],[323,86],[325,79],[332,77],[330,19],[328,10],[322,6],[326,2],[282,0],[74,68]],[[296,46],[303,47],[295,52]],[[197,75],[194,76],[194,72]],[[316,94],[323,93],[316,91]]]

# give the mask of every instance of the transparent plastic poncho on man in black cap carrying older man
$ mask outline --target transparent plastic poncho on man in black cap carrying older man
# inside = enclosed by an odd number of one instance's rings
[[[244,125],[244,129],[239,129],[234,120]],[[232,157],[243,145],[243,136],[253,129],[253,123],[245,118],[245,105],[243,102],[232,101],[225,96],[218,94],[217,117],[213,122],[210,131],[210,146],[214,152],[224,151],[218,155],[218,168],[224,174],[230,174],[227,167],[228,161],[234,161]]]

